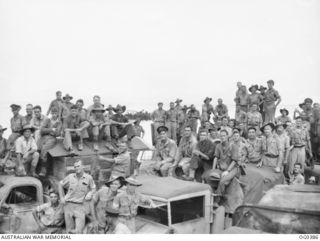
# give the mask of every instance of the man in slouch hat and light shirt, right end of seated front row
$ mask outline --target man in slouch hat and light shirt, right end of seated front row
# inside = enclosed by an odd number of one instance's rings
[[[258,167],[267,166],[274,169],[275,172],[280,173],[279,164],[283,159],[282,145],[279,137],[273,133],[275,125],[270,122],[261,127],[262,136],[262,150],[263,155]]]

